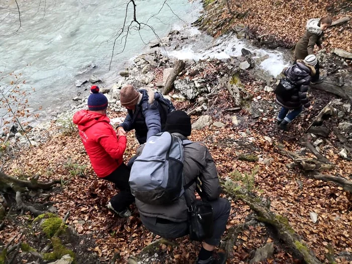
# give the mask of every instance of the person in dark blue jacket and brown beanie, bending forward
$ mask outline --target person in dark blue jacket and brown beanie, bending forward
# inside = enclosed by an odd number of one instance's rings
[[[120,102],[127,108],[127,116],[119,125],[125,131],[135,130],[139,144],[160,133],[166,123],[169,112],[174,110],[172,103],[153,90],[136,91],[132,85],[123,87],[120,92]]]

